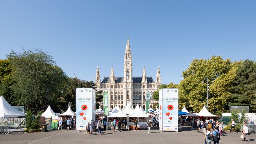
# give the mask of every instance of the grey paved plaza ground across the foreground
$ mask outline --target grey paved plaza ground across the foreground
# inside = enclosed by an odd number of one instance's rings
[[[49,130],[48,132],[27,134],[22,132],[12,132],[7,135],[0,134],[0,144],[204,144],[204,135],[202,133],[197,133],[197,130],[192,128],[182,128],[181,132],[161,132],[160,130],[153,128],[151,133],[148,133],[147,130],[127,130],[121,132],[102,131],[102,134],[103,135],[97,135],[96,132],[94,132],[89,136],[88,134],[84,135],[84,132],[75,132],[75,130]],[[240,135],[241,133],[224,132],[220,144],[247,143],[242,141]],[[255,143],[255,136],[255,133],[248,135],[251,143]]]

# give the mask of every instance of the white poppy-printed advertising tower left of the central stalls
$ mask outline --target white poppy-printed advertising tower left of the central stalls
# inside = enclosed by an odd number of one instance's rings
[[[95,90],[76,88],[76,131],[86,131],[88,122],[95,121]]]

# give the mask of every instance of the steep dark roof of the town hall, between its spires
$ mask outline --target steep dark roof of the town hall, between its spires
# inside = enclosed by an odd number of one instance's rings
[[[133,77],[133,83],[141,83],[142,77]],[[147,77],[148,83],[155,83],[152,77]],[[109,83],[109,77],[105,77],[101,83]],[[115,77],[115,83],[123,83],[123,77]]]

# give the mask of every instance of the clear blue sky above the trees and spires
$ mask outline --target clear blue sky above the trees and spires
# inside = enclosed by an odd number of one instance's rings
[[[256,1],[1,1],[0,59],[40,48],[69,77],[123,76],[129,34],[133,76],[179,83],[195,58],[232,61],[256,54]]]

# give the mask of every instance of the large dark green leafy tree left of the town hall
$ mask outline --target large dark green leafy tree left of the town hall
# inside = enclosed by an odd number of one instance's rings
[[[13,104],[26,105],[36,112],[45,110],[48,83],[49,105],[57,110],[68,79],[63,70],[56,66],[53,57],[39,49],[23,49],[21,53],[12,51],[7,57],[15,68],[10,86],[14,95]]]

